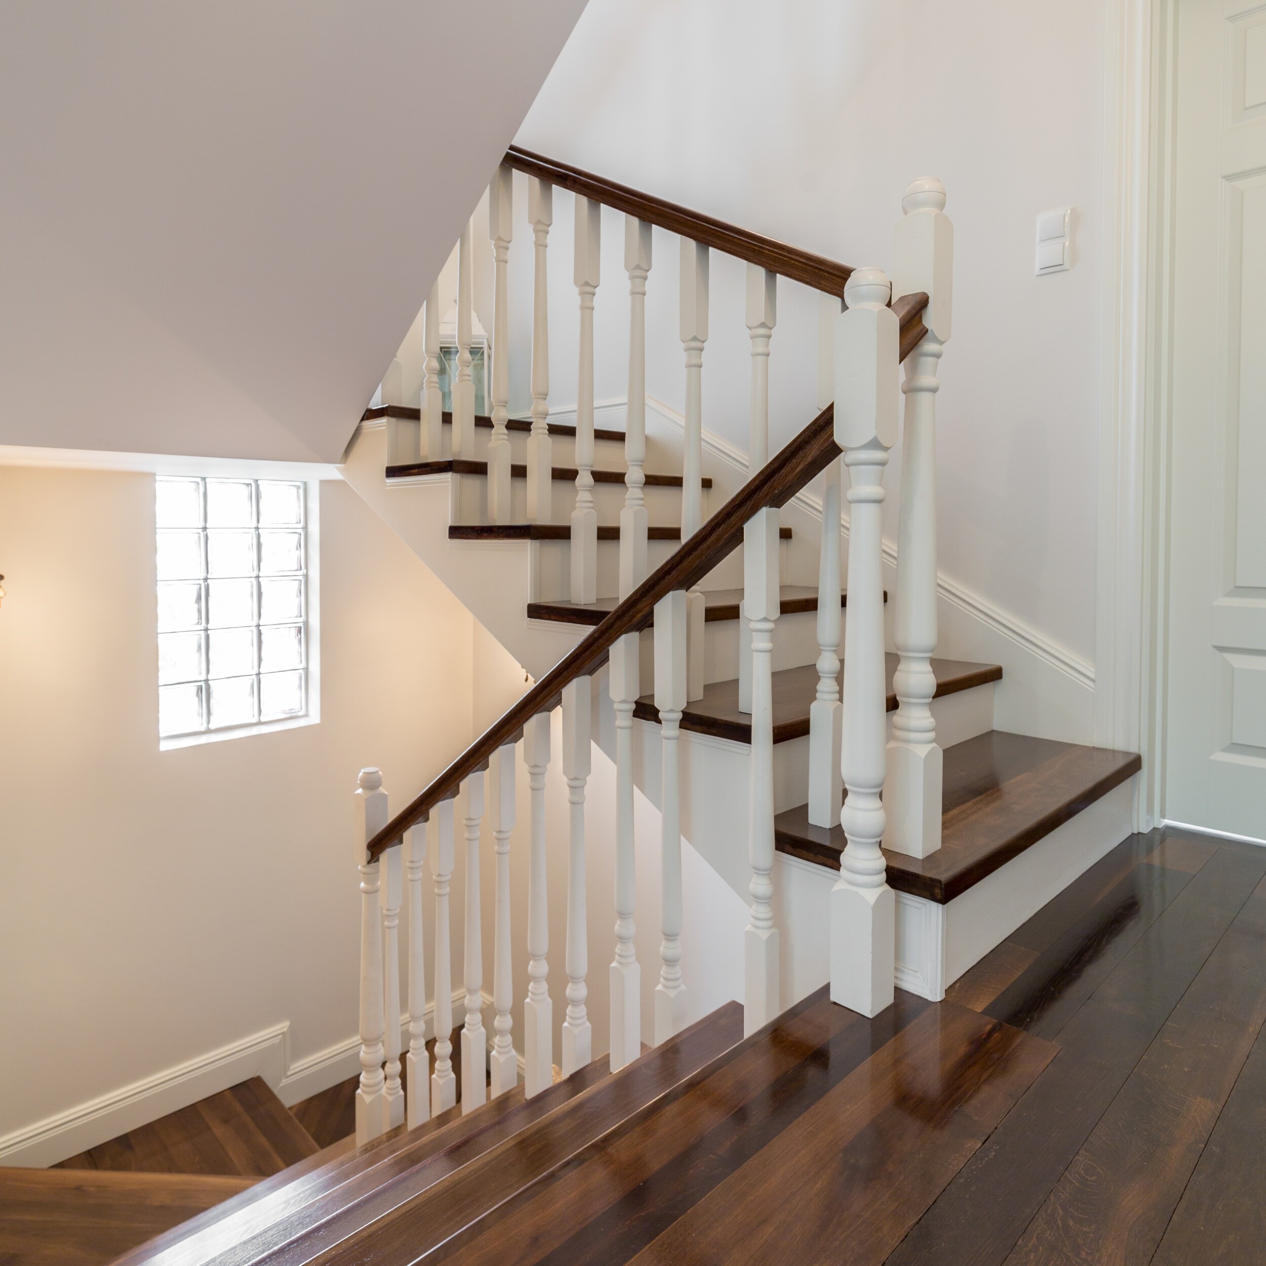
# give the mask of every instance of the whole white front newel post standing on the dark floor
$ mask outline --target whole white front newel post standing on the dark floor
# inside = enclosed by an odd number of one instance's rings
[[[836,443],[848,489],[848,620],[844,625],[839,823],[848,843],[830,894],[830,998],[862,1015],[893,1001],[896,903],[885,879],[884,467],[896,439],[900,324],[887,277],[858,268],[844,287],[836,334]]]

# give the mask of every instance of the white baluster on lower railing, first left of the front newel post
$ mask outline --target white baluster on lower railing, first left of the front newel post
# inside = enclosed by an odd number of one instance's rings
[[[743,603],[752,629],[752,767],[748,856],[751,922],[743,934],[743,1033],[779,1014],[779,932],[774,927],[774,625],[779,618],[779,511],[743,527]]]

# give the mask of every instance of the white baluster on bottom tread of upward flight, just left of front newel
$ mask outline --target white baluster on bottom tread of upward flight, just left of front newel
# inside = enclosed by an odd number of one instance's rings
[[[836,322],[839,300],[822,295],[818,305],[818,408],[834,399]],[[809,822],[839,820],[842,711],[839,704],[839,460],[823,471],[822,552],[818,558],[818,695],[809,705]]]

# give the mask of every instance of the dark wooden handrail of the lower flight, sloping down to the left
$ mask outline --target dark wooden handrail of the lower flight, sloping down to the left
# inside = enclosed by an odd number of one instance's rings
[[[893,304],[901,322],[901,360],[927,333],[924,294],[905,295]],[[500,720],[490,725],[419,796],[398,813],[367,844],[377,857],[422,822],[442,800],[454,796],[465,779],[486,770],[492,753],[515,742],[537,713],[549,711],[562,699],[562,687],[576,677],[596,672],[608,652],[625,633],[637,633],[655,620],[655,604],[675,589],[703,580],[743,539],[743,524],[766,506],[786,505],[820,471],[839,456],[836,444],[836,409],[827,405],[795,439],[752,476],[685,544],[657,567],[637,589],[567,652]]]

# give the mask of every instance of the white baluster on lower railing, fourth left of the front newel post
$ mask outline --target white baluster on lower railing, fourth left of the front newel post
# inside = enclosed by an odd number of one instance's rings
[[[562,1025],[562,1075],[570,1077],[594,1057],[589,989],[589,912],[585,904],[585,782],[591,766],[592,693],[589,677],[562,687],[562,772],[567,780],[567,1018]]]

